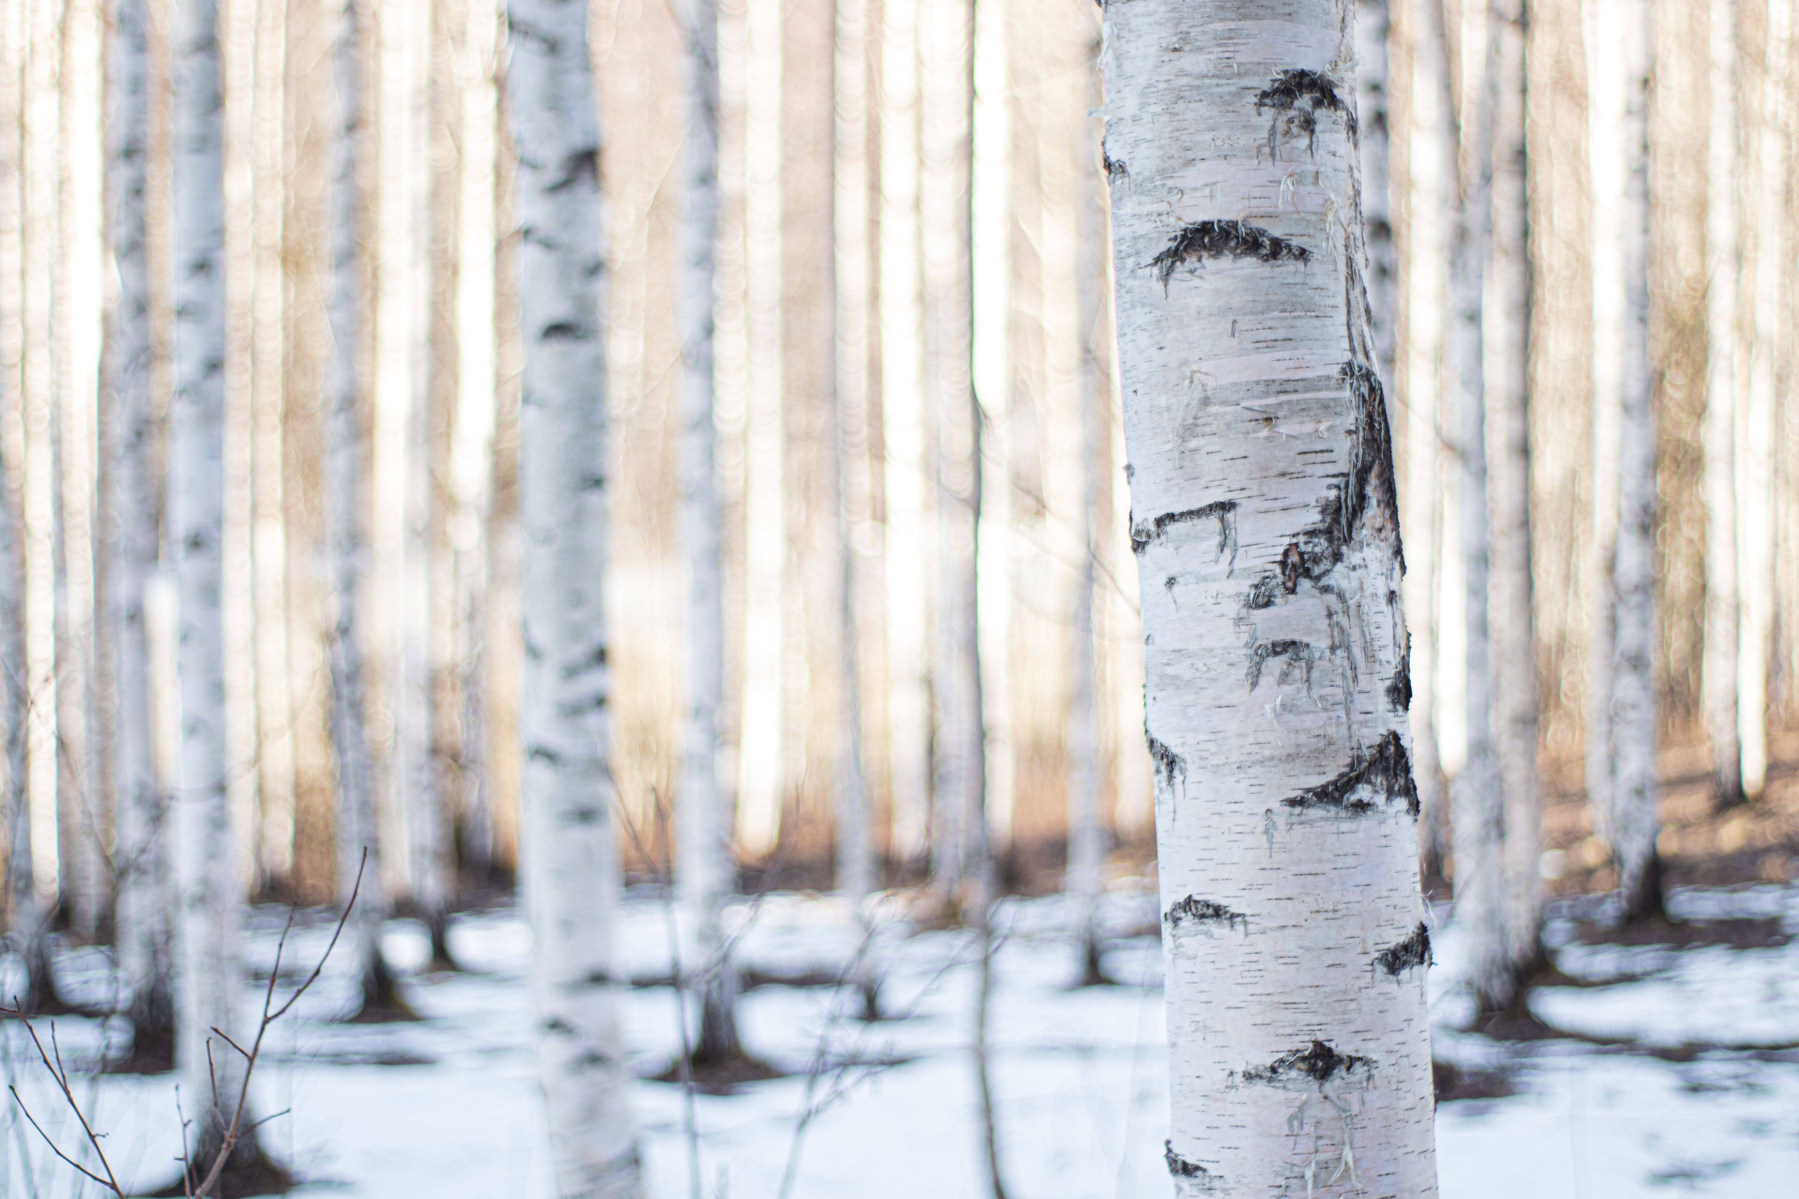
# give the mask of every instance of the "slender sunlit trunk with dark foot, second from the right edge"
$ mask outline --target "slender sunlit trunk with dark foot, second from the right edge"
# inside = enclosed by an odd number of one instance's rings
[[[1711,0],[1711,122],[1705,144],[1705,647],[1702,701],[1711,737],[1713,795],[1743,800],[1736,653],[1736,297],[1741,244],[1736,225],[1736,0]]]

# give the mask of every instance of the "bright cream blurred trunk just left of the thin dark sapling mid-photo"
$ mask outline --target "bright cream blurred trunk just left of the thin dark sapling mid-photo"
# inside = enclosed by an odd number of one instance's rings
[[[919,5],[919,225],[923,228],[925,406],[935,516],[932,597],[932,850],[935,901],[982,868],[986,728],[980,714],[975,525],[980,417],[970,379],[971,0]]]

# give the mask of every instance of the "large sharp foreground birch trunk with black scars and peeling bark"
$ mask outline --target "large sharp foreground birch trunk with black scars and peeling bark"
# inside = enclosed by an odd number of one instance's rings
[[[1353,11],[1106,5],[1180,1195],[1434,1195]]]

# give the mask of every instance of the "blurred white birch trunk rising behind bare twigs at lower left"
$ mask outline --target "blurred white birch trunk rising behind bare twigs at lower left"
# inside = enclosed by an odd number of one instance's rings
[[[182,969],[175,1048],[194,1097],[196,1149],[210,1161],[245,1084],[243,1057],[209,1035],[243,1043],[237,938],[241,854],[227,793],[225,744],[225,128],[216,0],[183,0],[175,59],[175,403],[169,430],[169,543],[180,604],[182,750],[173,802],[176,942]],[[246,1124],[254,1120],[245,1116]],[[227,1167],[239,1177],[275,1170],[255,1134]],[[254,1194],[254,1192],[252,1192]]]

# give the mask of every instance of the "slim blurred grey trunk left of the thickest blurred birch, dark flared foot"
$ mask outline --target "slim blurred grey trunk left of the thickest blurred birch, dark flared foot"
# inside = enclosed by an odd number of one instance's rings
[[[369,120],[363,77],[369,47],[363,38],[360,0],[344,0],[338,16],[333,70],[336,74],[338,144],[336,180],[331,189],[331,302],[329,322],[331,408],[326,413],[326,541],[335,573],[336,615],[331,624],[327,671],[331,674],[331,751],[336,768],[336,866],[338,902],[349,902],[362,870],[362,892],[351,913],[353,953],[362,980],[358,1019],[408,1016],[381,958],[381,926],[387,922],[387,875],[381,870],[381,836],[374,807],[374,762],[365,728],[369,694],[363,674],[362,588],[369,568],[367,520],[367,421],[365,379],[369,363],[369,262],[362,246],[369,203],[363,173],[369,156]],[[363,859],[367,854],[367,859]],[[367,865],[365,865],[367,861]]]

